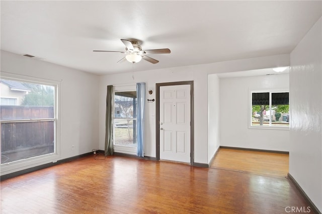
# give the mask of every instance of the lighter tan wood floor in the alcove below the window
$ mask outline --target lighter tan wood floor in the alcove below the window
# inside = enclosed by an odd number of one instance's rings
[[[210,167],[285,177],[288,165],[288,154],[220,148]]]

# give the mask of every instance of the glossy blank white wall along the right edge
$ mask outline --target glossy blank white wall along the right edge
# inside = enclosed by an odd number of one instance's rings
[[[322,211],[321,18],[291,52],[289,172]]]

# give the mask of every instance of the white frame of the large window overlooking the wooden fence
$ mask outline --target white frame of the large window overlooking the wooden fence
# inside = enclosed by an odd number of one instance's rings
[[[17,75],[17,74],[6,73],[6,72],[2,72],[1,78],[54,86],[54,94],[55,94],[54,118],[50,119],[54,121],[54,142],[55,142],[54,153],[1,164],[1,175],[6,175],[20,170],[40,166],[50,162],[53,162],[53,163],[57,162],[57,160],[60,159],[60,120],[59,120],[60,81],[41,79],[41,78]],[[48,119],[44,119],[44,120],[48,121]],[[28,121],[42,121],[42,119],[28,120]],[[1,122],[8,122],[8,121],[1,121]]]

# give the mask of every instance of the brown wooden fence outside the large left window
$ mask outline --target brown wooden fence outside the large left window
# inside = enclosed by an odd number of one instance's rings
[[[53,118],[53,107],[1,106],[2,120]],[[17,156],[23,153],[28,158],[28,150],[54,148],[54,121],[6,122],[1,124],[1,154]],[[34,156],[30,154],[29,156]],[[3,161],[2,161],[3,162]]]

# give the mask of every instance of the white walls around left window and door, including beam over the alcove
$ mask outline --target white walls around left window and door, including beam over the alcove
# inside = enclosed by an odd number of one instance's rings
[[[58,136],[61,142],[60,159],[87,153],[92,149],[104,150],[107,85],[146,82],[147,90],[152,89],[155,92],[155,83],[194,80],[194,161],[207,164],[211,158],[211,153],[214,152],[212,150],[215,148],[215,145],[211,144],[208,154],[208,74],[287,65],[289,65],[289,54],[283,54],[136,73],[96,76],[46,61],[1,51],[2,72],[60,81],[61,131],[60,136]],[[147,95],[147,98],[155,98],[155,93]],[[99,112],[97,112],[97,109],[99,109]],[[155,117],[152,117],[152,115],[155,115],[155,103],[146,103],[145,114],[144,151],[146,156],[155,157]],[[97,143],[98,140],[99,144]],[[75,146],[74,150],[71,150],[71,145]]]

